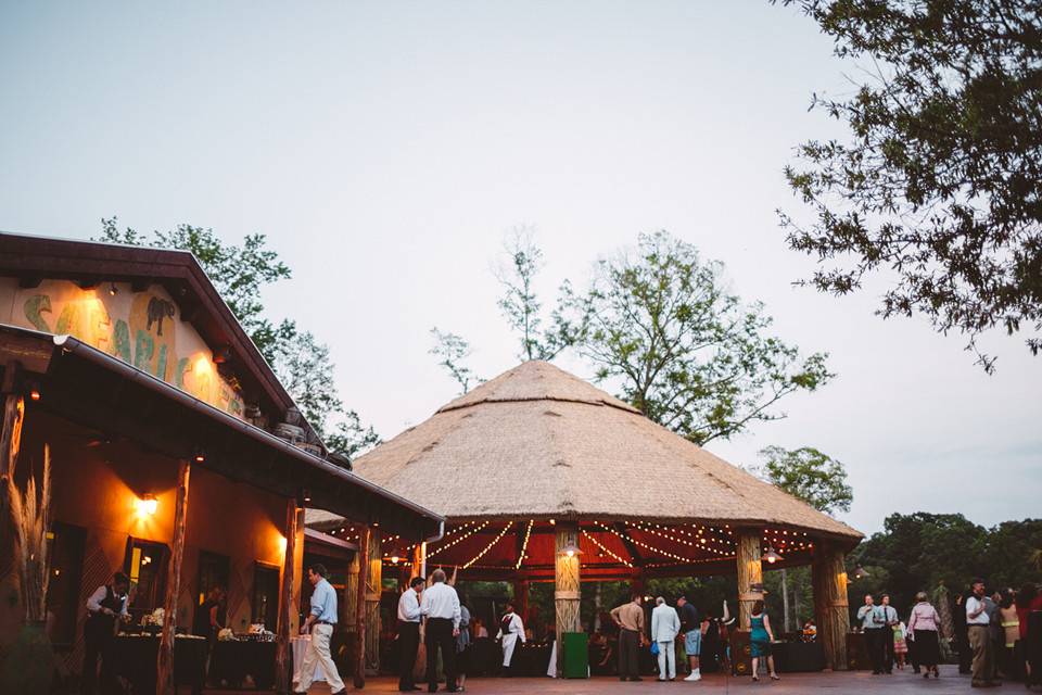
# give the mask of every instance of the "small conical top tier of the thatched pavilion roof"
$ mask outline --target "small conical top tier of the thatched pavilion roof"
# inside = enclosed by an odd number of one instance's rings
[[[437,412],[447,413],[484,403],[518,403],[524,401],[585,403],[639,413],[628,403],[620,401],[579,377],[542,359],[523,362],[442,406]]]

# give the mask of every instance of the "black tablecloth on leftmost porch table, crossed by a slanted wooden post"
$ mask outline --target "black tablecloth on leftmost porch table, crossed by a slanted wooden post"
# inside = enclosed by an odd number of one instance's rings
[[[155,660],[160,637],[119,635],[112,641],[104,659],[116,678],[128,682],[132,693],[155,692]],[[174,686],[202,693],[206,680],[206,640],[174,639]]]

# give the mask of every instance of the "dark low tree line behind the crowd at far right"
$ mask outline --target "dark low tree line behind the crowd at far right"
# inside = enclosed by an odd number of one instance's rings
[[[884,529],[851,554],[850,565],[873,573],[851,584],[853,597],[887,591],[903,611],[916,592],[932,592],[942,581],[953,592],[966,589],[974,577],[982,577],[989,590],[1042,581],[1042,569],[1032,564],[1042,547],[1042,519],[986,529],[961,514],[917,511],[890,515]]]

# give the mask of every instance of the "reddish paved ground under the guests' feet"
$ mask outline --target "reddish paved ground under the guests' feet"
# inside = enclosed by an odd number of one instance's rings
[[[646,678],[640,683],[620,683],[618,679],[596,678],[588,681],[566,681],[555,679],[472,679],[467,682],[468,693],[487,693],[490,695],[531,695],[532,693],[567,693],[568,695],[622,695],[630,693],[698,693],[712,692],[719,695],[730,693],[770,693],[771,695],[797,695],[800,693],[829,692],[869,695],[872,693],[928,693],[929,695],[950,695],[974,693],[1027,693],[1022,683],[1006,683],[991,690],[970,690],[969,677],[960,675],[954,666],[941,667],[940,680],[924,680],[911,670],[895,671],[893,675],[872,675],[865,671],[853,673],[785,673],[777,682],[750,679],[724,678],[722,674],[707,675],[699,683],[659,683]],[[250,691],[245,691],[249,693]],[[348,687],[348,692],[353,691]],[[397,692],[397,681],[390,678],[369,679],[367,693]],[[427,692],[424,687],[423,693]],[[444,692],[440,690],[439,692]],[[1034,687],[1031,692],[1042,692]],[[255,691],[254,691],[255,693]],[[207,691],[207,695],[230,695],[229,691]],[[309,695],[329,695],[329,687],[315,685]],[[418,692],[418,695],[422,695]]]

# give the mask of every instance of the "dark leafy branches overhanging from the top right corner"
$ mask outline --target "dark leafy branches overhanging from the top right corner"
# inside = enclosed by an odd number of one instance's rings
[[[1031,0],[783,0],[872,62],[844,99],[814,97],[849,142],[801,144],[792,190],[816,219],[780,214],[789,247],[847,294],[881,271],[879,314],[923,314],[976,338],[1027,328],[1042,349],[1042,5]],[[1033,334],[1031,334],[1033,332]]]

